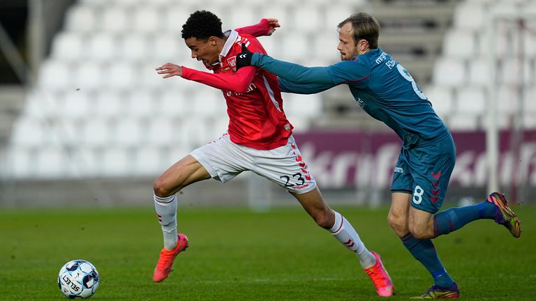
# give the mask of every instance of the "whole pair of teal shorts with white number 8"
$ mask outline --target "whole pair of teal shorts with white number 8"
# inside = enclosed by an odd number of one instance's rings
[[[441,208],[456,162],[450,133],[402,148],[393,173],[391,192],[412,194],[411,206],[429,213]]]

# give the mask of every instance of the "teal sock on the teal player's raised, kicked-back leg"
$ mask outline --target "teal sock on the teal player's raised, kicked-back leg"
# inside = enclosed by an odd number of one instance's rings
[[[433,237],[448,234],[460,229],[475,219],[491,219],[494,217],[496,206],[489,201],[476,205],[450,208],[433,217]]]

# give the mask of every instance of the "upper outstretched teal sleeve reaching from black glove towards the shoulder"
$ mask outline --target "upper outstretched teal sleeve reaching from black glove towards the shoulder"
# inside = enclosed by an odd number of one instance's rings
[[[251,56],[251,65],[258,66],[296,84],[336,84],[327,70],[328,67],[304,67],[259,53]]]

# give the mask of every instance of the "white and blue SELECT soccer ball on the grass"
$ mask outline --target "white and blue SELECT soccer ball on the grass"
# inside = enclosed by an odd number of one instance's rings
[[[89,261],[69,261],[59,270],[58,286],[69,299],[89,298],[98,288],[97,269]]]

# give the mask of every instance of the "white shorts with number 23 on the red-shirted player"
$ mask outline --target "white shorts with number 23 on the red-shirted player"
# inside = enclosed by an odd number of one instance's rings
[[[292,136],[288,137],[286,145],[263,151],[235,144],[225,133],[220,139],[196,148],[190,155],[221,183],[242,171],[253,171],[297,194],[310,192],[316,187],[316,180],[309,173]]]

